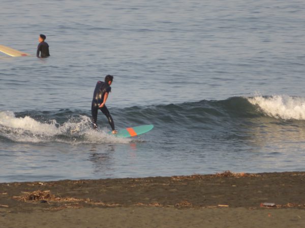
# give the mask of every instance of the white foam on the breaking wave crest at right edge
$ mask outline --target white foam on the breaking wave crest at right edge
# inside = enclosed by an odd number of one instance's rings
[[[305,98],[287,95],[247,98],[268,116],[284,120],[305,120]]]

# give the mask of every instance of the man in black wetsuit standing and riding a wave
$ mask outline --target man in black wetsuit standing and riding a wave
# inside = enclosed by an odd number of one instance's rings
[[[98,109],[100,109],[108,119],[108,122],[112,129],[112,134],[116,134],[117,131],[114,129],[113,119],[110,115],[108,108],[105,105],[108,95],[111,92],[110,85],[112,84],[112,81],[113,81],[113,76],[108,74],[106,75],[104,82],[101,81],[97,82],[92,99],[91,113],[92,113],[92,124],[94,129],[98,128],[97,125]]]

